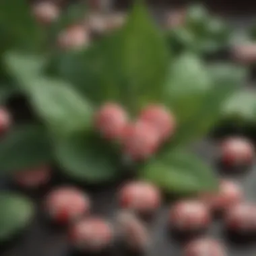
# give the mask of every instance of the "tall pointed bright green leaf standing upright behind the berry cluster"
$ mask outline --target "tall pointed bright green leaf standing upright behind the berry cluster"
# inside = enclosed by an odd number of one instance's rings
[[[123,92],[127,96],[127,105],[136,112],[142,104],[160,100],[168,64],[163,35],[143,1],[137,1],[133,7],[124,28],[122,44],[121,63],[129,82]]]

